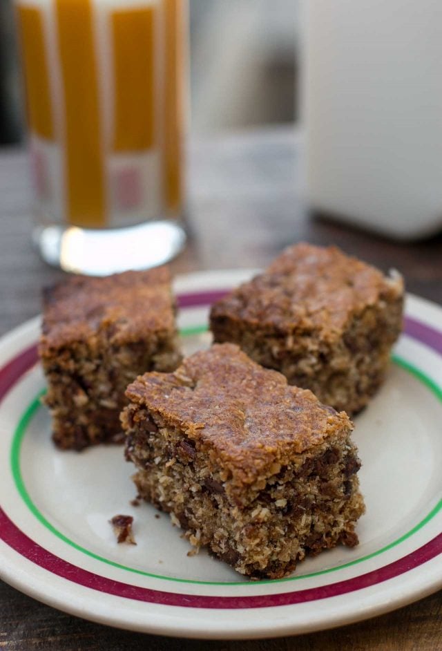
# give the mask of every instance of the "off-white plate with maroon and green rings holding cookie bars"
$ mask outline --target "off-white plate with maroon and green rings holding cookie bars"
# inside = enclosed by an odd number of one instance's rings
[[[208,305],[251,272],[176,281],[186,352],[207,346]],[[167,516],[133,507],[122,449],[61,452],[39,405],[39,319],[0,341],[2,578],[86,619],[149,633],[257,638],[343,625],[442,586],[442,309],[410,296],[405,334],[385,385],[356,418],[367,513],[360,545],[300,563],[280,581],[251,582],[188,543]],[[108,520],[135,518],[137,546]]]

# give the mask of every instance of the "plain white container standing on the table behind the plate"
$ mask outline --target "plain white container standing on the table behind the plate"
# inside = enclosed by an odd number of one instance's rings
[[[442,229],[442,1],[306,0],[307,199],[398,239]]]

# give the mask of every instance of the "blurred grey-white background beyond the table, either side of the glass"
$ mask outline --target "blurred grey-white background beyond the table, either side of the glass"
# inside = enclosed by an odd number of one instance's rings
[[[300,0],[190,0],[191,129],[296,120]],[[0,144],[23,138],[12,0],[0,0]]]

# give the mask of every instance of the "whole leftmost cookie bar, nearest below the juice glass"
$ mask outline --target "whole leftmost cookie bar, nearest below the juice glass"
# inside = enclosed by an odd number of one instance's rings
[[[81,450],[122,439],[129,382],[180,363],[169,270],[73,276],[45,290],[39,355],[55,443]]]

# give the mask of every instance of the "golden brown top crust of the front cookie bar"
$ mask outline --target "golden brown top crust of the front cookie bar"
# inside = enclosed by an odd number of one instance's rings
[[[138,377],[126,397],[205,447],[236,484],[273,474],[294,455],[352,429],[347,414],[287,385],[230,343],[196,352],[173,373]]]

